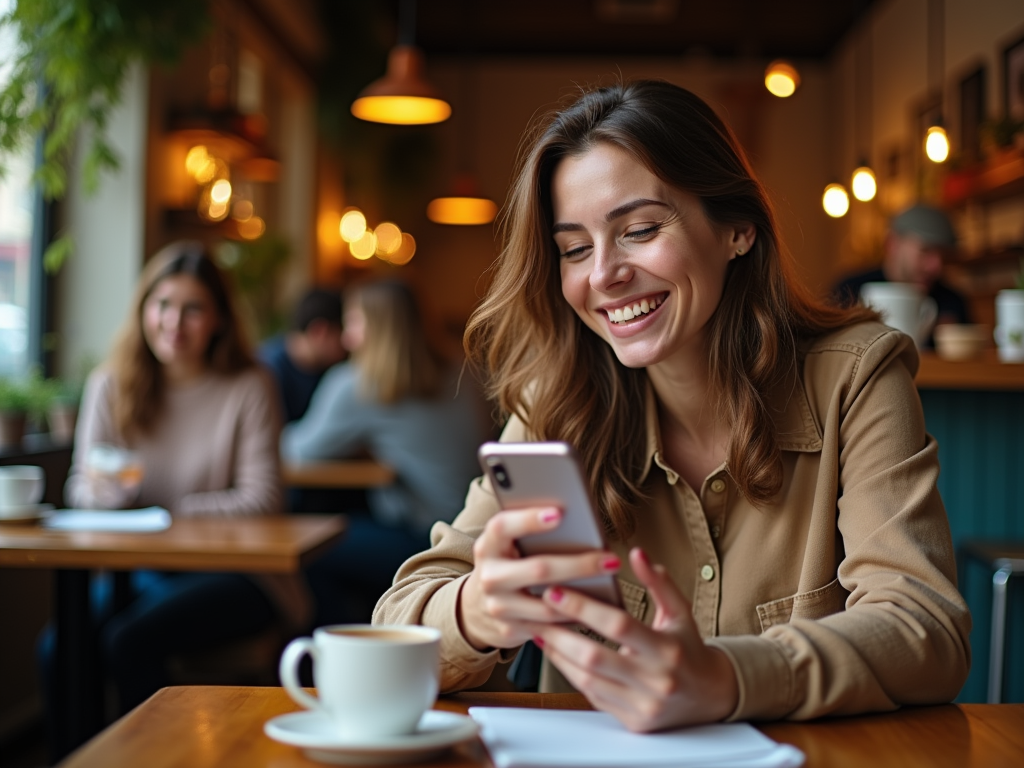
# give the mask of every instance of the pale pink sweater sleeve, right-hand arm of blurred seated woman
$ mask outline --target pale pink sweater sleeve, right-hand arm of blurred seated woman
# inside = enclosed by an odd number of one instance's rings
[[[261,367],[246,373],[239,386],[243,390],[233,443],[221,449],[233,457],[231,486],[183,496],[173,510],[176,514],[234,517],[273,514],[284,509],[276,388]]]

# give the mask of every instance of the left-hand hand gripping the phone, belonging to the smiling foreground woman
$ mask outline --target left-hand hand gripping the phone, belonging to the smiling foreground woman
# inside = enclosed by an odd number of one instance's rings
[[[566,617],[527,592],[529,587],[613,573],[621,562],[610,552],[523,557],[516,540],[558,527],[561,510],[544,507],[499,512],[473,545],[473,570],[459,595],[459,624],[478,650],[514,648],[553,622]]]

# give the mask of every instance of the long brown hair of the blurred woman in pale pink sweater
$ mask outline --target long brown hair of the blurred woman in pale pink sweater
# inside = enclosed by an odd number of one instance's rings
[[[178,241],[164,247],[142,269],[132,298],[131,312],[110,358],[117,393],[114,424],[129,442],[133,437],[152,433],[163,411],[167,382],[163,366],[142,334],[142,309],[157,284],[175,274],[195,278],[213,297],[220,325],[206,351],[209,370],[233,374],[255,365],[224,275],[210,258],[206,247],[196,241]]]

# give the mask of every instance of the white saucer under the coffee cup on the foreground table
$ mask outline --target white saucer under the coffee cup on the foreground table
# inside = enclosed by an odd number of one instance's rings
[[[275,741],[300,746],[306,756],[339,765],[387,765],[427,760],[444,750],[474,738],[477,725],[465,715],[430,710],[420,718],[416,733],[365,741],[345,741],[319,712],[293,712],[271,718],[263,731]]]

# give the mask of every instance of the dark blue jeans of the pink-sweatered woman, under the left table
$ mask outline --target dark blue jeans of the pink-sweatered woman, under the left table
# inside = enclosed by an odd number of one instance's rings
[[[93,579],[92,608],[104,673],[124,714],[167,685],[166,663],[256,634],[275,620],[269,598],[239,573],[132,574],[135,599],[112,614],[110,580]],[[53,700],[53,628],[40,638],[45,695]]]

